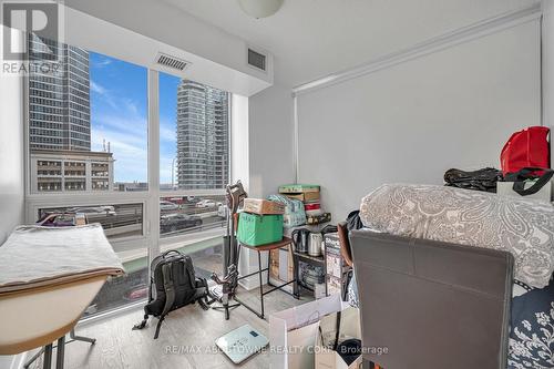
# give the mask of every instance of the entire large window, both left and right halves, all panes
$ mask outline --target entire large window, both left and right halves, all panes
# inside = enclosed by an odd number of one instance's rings
[[[147,79],[156,72],[146,68],[47,43],[61,62],[28,78],[28,222],[63,225],[69,213],[100,223],[126,271],[104,285],[85,315],[145,299],[148,255],[158,252],[193,255],[204,277],[220,273],[229,93],[164,73],[154,91]],[[34,62],[55,62],[37,52],[45,48],[35,37],[29,47]],[[148,150],[158,150],[148,145],[153,93],[160,96],[160,183],[147,175]],[[152,206],[152,196],[160,203]],[[158,217],[160,238],[153,239],[144,224]]]

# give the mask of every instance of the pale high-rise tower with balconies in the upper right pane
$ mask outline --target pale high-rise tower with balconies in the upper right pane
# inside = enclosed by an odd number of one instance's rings
[[[228,183],[228,93],[183,80],[177,89],[177,175],[184,189]]]

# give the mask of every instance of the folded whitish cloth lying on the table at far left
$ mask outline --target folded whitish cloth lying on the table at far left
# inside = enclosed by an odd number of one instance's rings
[[[0,246],[0,295],[123,273],[100,224],[19,226]]]

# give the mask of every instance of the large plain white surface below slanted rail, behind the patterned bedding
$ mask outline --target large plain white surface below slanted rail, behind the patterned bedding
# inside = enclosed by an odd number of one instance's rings
[[[382,183],[499,167],[510,134],[541,124],[540,78],[535,20],[301,94],[299,182],[337,221]]]

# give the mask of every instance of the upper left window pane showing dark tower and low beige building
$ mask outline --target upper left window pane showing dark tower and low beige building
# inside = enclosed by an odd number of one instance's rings
[[[29,51],[55,65],[29,74],[31,192],[147,189],[147,69],[34,35]]]

